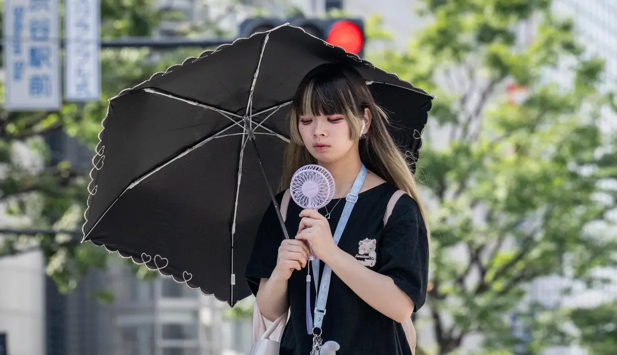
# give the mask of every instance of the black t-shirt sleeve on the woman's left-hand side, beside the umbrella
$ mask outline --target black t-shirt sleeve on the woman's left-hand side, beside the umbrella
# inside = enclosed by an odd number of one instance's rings
[[[281,203],[282,198],[282,193],[276,196],[278,204]],[[244,270],[244,276],[253,295],[257,295],[260,280],[270,277],[275,269],[278,247],[283,239],[283,231],[276,216],[274,204],[270,202],[268,209],[263,213],[259,228],[257,228],[251,257]]]

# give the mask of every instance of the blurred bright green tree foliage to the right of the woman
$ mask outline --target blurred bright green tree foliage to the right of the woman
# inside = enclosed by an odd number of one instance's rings
[[[600,128],[615,102],[599,89],[603,62],[550,0],[424,0],[421,12],[432,21],[407,50],[369,56],[436,96],[419,164],[431,202],[433,288],[417,323],[436,344],[420,351],[457,354],[478,333],[489,351],[568,345],[576,335],[566,324],[608,313],[526,296],[549,276],[595,287],[603,280],[592,271],[617,264],[615,135]],[[532,23],[526,43],[521,23]],[[378,25],[368,35],[387,40]],[[528,89],[521,102],[508,102],[511,83]],[[513,337],[512,313],[529,341]],[[587,345],[613,337],[614,352],[614,316],[613,330],[582,333]]]

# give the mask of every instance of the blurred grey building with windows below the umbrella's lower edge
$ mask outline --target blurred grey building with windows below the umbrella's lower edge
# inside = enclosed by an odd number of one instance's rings
[[[114,292],[101,303],[96,292]],[[236,355],[251,347],[251,323],[225,317],[226,303],[169,277],[142,281],[123,260],[93,270],[77,289],[46,288],[48,355]]]

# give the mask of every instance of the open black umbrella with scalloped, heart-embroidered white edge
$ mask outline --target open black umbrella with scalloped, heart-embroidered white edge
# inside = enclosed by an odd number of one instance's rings
[[[417,156],[433,97],[280,26],[188,58],[109,101],[83,240],[230,306],[247,297],[244,267],[282,175],[290,100],[324,63],[353,65],[394,121],[395,140]]]

